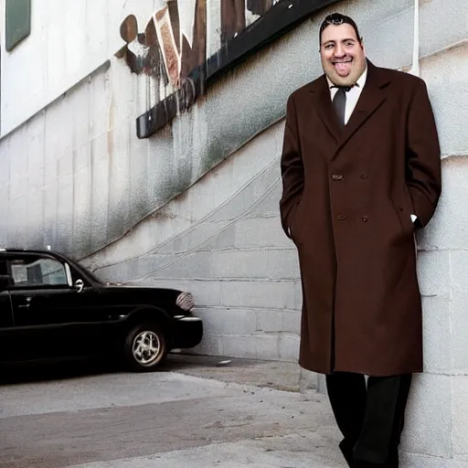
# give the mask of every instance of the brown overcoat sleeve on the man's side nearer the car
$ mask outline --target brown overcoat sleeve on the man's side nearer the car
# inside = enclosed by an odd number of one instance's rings
[[[293,95],[286,109],[286,125],[282,144],[282,198],[280,214],[282,229],[291,238],[291,215],[303,193],[303,155],[297,127],[297,114]]]

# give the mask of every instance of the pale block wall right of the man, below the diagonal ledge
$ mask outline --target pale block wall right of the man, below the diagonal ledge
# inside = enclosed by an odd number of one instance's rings
[[[468,466],[468,140],[462,136],[468,130],[462,118],[468,112],[468,42],[420,65],[441,134],[443,190],[418,239],[425,365],[410,395],[403,449],[408,466],[460,468]]]

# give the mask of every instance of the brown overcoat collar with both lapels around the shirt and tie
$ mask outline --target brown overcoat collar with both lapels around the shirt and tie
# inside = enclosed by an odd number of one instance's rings
[[[385,69],[376,67],[367,59],[366,84],[359,96],[356,108],[351,114],[351,117],[344,129],[340,129],[336,119],[335,110],[333,108],[332,100],[330,99],[330,90],[326,76],[323,75],[320,77],[314,82],[314,86],[309,88],[309,92],[314,94],[314,101],[318,115],[338,144],[336,152],[346,144],[351,136],[359,130],[367,119],[376,112],[387,99],[385,88],[389,81],[390,75],[385,72]]]

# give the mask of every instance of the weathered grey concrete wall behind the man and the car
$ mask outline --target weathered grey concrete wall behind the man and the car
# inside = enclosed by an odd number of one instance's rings
[[[108,44],[123,16],[141,11],[143,24],[155,7],[116,3],[118,19],[104,21]],[[335,9],[355,17],[377,65],[410,69],[412,0],[346,1],[320,17]],[[420,1],[420,74],[440,131],[444,186],[418,239],[425,372],[414,380],[403,441],[405,466],[418,468],[468,467],[467,18],[465,0]],[[279,157],[285,100],[321,73],[318,23],[239,66],[149,140],[134,133],[144,81],[109,48],[90,78],[45,112],[6,112],[12,128],[31,118],[0,140],[0,244],[50,244],[103,278],[191,290],[207,327],[197,352],[295,360],[301,289],[278,218]],[[12,60],[7,75],[2,61],[2,106],[4,86],[14,90],[23,67]]]

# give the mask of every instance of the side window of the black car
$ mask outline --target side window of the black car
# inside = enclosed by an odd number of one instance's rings
[[[15,286],[68,286],[65,265],[47,257],[10,261]]]

